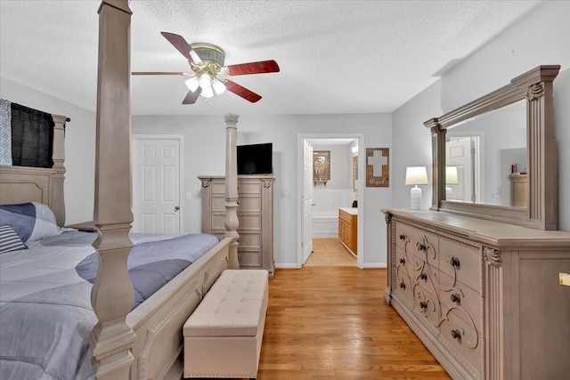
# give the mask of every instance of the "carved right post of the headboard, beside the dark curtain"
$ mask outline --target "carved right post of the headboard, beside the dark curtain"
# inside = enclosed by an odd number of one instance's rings
[[[50,189],[50,208],[55,214],[57,225],[65,225],[65,201],[63,197],[63,180],[65,179],[65,123],[68,117],[52,115],[53,123],[53,170],[52,188]]]

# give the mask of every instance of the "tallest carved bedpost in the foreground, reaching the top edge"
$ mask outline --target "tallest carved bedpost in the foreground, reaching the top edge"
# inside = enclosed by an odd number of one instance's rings
[[[130,175],[131,10],[127,0],[102,0],[99,8],[99,73],[94,248],[99,271],[91,292],[98,322],[89,336],[97,379],[129,378],[134,332],[126,324],[133,308],[133,286],[126,260],[133,246]]]

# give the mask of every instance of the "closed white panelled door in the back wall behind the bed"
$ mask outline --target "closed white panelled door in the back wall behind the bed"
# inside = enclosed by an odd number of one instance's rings
[[[180,233],[180,137],[133,144],[133,232]]]

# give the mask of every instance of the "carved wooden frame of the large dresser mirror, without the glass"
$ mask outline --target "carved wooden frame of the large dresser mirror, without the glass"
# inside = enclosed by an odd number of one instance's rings
[[[552,81],[559,65],[539,66],[493,93],[424,123],[432,133],[431,210],[508,222],[538,230],[558,230],[558,154],[554,136]],[[526,100],[528,204],[526,208],[445,200],[445,135],[471,117]]]

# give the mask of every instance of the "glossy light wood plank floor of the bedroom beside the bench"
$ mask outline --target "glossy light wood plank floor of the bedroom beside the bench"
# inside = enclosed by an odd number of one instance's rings
[[[257,378],[450,379],[384,302],[385,269],[278,269]]]

